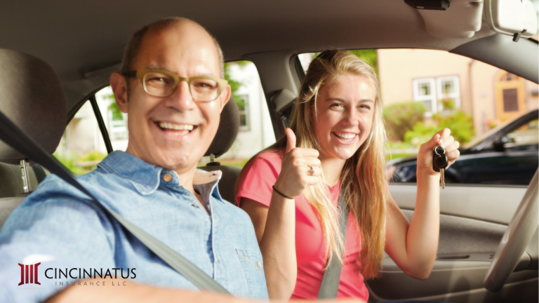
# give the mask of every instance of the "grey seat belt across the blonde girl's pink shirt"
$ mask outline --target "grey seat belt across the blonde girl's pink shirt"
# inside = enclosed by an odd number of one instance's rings
[[[350,208],[348,208],[348,205],[346,204],[345,194],[342,188],[340,189],[337,212],[339,215],[340,234],[335,235],[335,242],[338,241],[339,236],[342,236],[342,250],[344,250],[346,244],[346,230],[348,228],[348,216],[350,215]],[[342,255],[344,255],[344,251],[342,252]],[[342,269],[342,264],[336,257],[331,258],[329,262],[330,263],[328,265],[328,268],[324,272],[324,278],[322,278],[322,283],[318,292],[318,299],[337,298],[337,292],[339,290],[340,282],[340,270]]]

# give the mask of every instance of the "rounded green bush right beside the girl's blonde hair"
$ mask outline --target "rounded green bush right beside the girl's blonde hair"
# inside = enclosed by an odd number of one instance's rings
[[[404,134],[423,121],[425,105],[406,102],[388,105],[383,109],[385,129],[391,141],[404,141]]]

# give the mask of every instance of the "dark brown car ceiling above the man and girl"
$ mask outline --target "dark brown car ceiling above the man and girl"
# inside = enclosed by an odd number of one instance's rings
[[[275,50],[452,50],[493,34],[483,24],[472,38],[432,36],[418,11],[404,0],[4,1],[0,48],[51,64],[62,79],[71,109],[107,83],[107,74],[92,78],[88,72],[117,65],[136,29],[172,15],[206,27],[220,42],[225,60]]]

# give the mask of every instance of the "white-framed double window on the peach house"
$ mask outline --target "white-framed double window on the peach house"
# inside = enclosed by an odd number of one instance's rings
[[[460,108],[458,76],[414,79],[413,100],[423,102],[425,116]]]

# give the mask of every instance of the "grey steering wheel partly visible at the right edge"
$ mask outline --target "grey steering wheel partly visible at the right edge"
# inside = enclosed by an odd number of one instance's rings
[[[528,243],[538,229],[538,187],[538,170],[535,170],[535,175],[500,241],[483,281],[484,287],[491,292],[497,292],[503,287],[509,275],[521,262]],[[526,263],[525,258],[524,267],[529,263],[529,257],[527,261]]]

